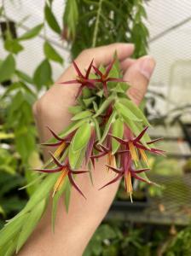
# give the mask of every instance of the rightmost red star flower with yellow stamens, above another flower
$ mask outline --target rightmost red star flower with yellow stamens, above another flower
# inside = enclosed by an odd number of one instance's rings
[[[121,139],[119,137],[115,137],[112,134],[110,134],[111,137],[115,138],[119,143],[124,144],[126,146],[126,149],[130,150],[131,158],[132,158],[132,160],[134,160],[136,166],[137,166],[137,162],[139,160],[139,155],[137,154],[137,151],[141,154],[142,160],[147,165],[148,165],[148,157],[145,154],[145,151],[149,151],[150,153],[159,154],[159,155],[165,154],[164,150],[160,150],[158,148],[147,148],[144,145],[142,145],[141,139],[147,130],[148,130],[148,126],[145,127],[136,138],[132,137],[132,133],[130,132],[129,128],[127,128],[127,127],[125,127],[125,131],[124,131],[124,134],[126,137],[125,139]],[[156,143],[161,139],[162,138],[150,141],[147,144],[149,145],[152,143]]]

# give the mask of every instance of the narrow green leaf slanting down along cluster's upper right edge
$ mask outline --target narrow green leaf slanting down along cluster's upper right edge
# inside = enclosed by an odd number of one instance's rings
[[[136,106],[136,104],[125,98],[121,98],[119,102],[121,102],[126,108],[129,108],[130,111],[134,113],[138,119],[142,119],[144,125],[150,125],[148,123],[148,119],[144,113],[142,113],[142,110]]]

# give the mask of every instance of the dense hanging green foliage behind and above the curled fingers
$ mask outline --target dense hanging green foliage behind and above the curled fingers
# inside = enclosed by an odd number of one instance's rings
[[[148,48],[145,19],[142,0],[68,0],[62,37],[71,42],[73,57],[83,49],[113,42],[134,43],[138,57],[145,55]]]

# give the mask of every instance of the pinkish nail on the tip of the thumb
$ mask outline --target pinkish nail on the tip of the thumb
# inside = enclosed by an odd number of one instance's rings
[[[145,56],[142,58],[142,61],[139,65],[140,73],[147,79],[150,79],[153,73],[153,69],[155,67],[155,61],[151,56]]]

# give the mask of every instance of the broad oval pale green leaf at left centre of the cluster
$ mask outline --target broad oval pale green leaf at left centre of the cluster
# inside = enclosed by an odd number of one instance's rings
[[[72,151],[78,151],[84,148],[90,140],[91,126],[89,122],[84,123],[78,128],[74,137],[72,137]]]

